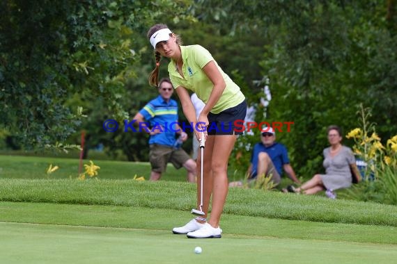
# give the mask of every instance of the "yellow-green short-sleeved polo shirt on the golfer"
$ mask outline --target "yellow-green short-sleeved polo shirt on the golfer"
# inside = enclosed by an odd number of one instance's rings
[[[212,58],[211,53],[201,47],[200,45],[180,46],[182,52],[183,67],[182,72],[185,79],[180,76],[175,60],[171,60],[168,65],[169,78],[174,88],[182,86],[193,92],[196,92],[197,97],[207,104],[214,84],[203,72],[203,67],[211,60],[217,65],[219,72],[224,77],[226,88],[217,104],[212,108],[211,113],[217,114],[228,108],[238,106],[244,101],[245,97],[242,94],[240,87],[235,84],[230,77],[222,71],[218,63]]]

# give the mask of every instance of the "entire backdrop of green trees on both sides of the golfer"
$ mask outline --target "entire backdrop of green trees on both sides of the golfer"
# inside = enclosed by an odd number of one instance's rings
[[[146,31],[164,22],[185,44],[208,48],[249,104],[262,96],[256,83],[270,85],[270,106],[257,117],[295,122],[278,140],[309,178],[322,170],[325,128],[351,129],[359,104],[373,109],[382,138],[396,131],[395,9],[380,0],[3,1],[1,134],[18,148],[77,144],[79,132],[69,135],[85,129],[88,147],[102,142],[114,157],[123,148],[146,160],[146,135],[105,133],[102,122],[123,122],[155,95]]]

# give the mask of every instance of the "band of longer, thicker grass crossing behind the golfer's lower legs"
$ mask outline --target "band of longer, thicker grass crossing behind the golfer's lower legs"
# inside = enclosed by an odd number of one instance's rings
[[[0,179],[0,200],[189,211],[196,203],[195,188],[192,183],[176,181]],[[288,220],[397,226],[396,206],[253,189],[229,190],[224,212]]]

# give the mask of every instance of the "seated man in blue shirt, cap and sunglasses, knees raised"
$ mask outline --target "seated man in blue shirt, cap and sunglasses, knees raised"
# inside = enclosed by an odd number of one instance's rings
[[[293,167],[290,165],[288,152],[284,145],[276,142],[276,133],[271,127],[262,129],[260,141],[252,151],[251,164],[247,171],[247,179],[255,181],[260,177],[271,177],[274,184],[281,182],[282,170],[295,183],[299,183]],[[241,187],[242,181],[233,181],[229,187]]]

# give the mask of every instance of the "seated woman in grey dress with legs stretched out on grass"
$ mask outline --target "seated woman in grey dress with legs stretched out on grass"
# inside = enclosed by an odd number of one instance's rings
[[[302,184],[299,188],[289,185],[288,192],[303,192],[305,195],[313,195],[322,190],[327,190],[327,197],[335,199],[334,190],[349,188],[352,185],[352,176],[357,182],[361,180],[359,170],[356,166],[355,156],[349,147],[341,144],[342,131],[338,126],[329,126],[327,129],[330,147],[322,151],[325,174],[316,174],[312,179]],[[352,175],[352,173],[354,175]]]

